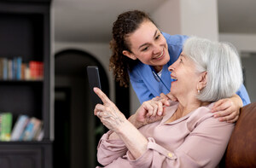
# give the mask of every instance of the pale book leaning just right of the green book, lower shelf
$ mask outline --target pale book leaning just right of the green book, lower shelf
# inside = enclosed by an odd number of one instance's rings
[[[22,135],[23,131],[26,128],[26,125],[29,121],[28,116],[26,115],[20,115],[19,118],[17,119],[14,129],[12,130],[11,133],[11,141],[19,141],[20,136]]]

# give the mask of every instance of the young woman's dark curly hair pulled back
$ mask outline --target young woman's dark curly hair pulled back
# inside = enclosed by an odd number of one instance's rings
[[[130,33],[135,32],[144,20],[154,23],[143,11],[132,10],[119,14],[118,19],[113,22],[113,38],[109,43],[110,49],[112,49],[109,67],[113,70],[113,76],[120,86],[127,87],[129,85],[128,71],[132,71],[132,68],[139,62],[123,55],[123,50],[131,52],[131,43],[126,38]]]

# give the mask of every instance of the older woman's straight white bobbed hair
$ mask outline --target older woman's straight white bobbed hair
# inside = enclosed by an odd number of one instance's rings
[[[232,44],[191,37],[184,43],[183,53],[195,62],[198,72],[207,72],[207,85],[197,96],[199,100],[218,101],[240,88],[241,61]]]

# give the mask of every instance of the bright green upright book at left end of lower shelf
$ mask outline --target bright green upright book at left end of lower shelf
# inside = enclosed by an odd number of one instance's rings
[[[12,129],[12,113],[1,113],[1,133],[0,141],[10,141],[10,134]]]

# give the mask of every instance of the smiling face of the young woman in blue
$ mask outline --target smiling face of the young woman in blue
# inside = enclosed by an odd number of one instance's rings
[[[166,38],[149,20],[126,39],[131,45],[131,59],[140,60],[150,66],[164,66],[170,60]]]

